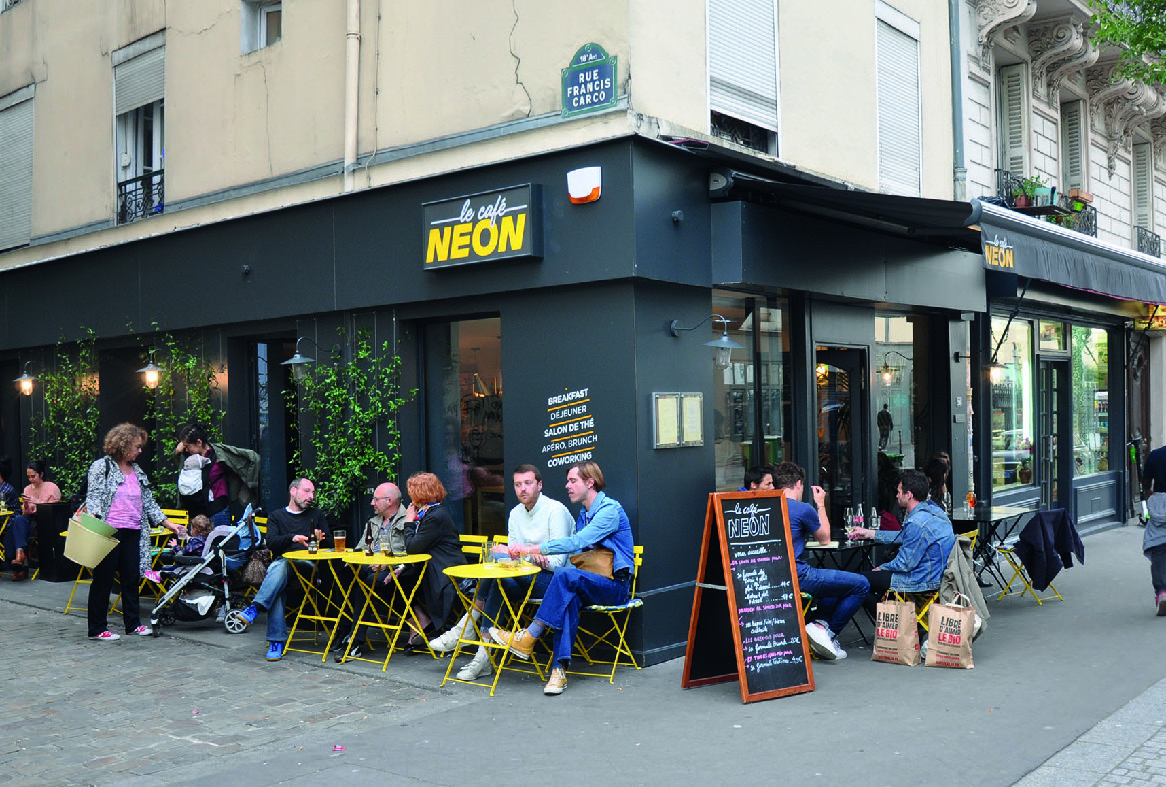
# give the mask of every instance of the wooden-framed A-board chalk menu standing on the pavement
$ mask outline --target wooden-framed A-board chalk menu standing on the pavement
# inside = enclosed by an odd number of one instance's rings
[[[714,493],[705,510],[681,684],[735,677],[744,702],[814,690],[780,491]]]

